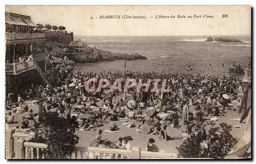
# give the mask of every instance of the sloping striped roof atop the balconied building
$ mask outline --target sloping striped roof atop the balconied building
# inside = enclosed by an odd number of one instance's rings
[[[15,14],[15,13],[9,13],[9,12],[5,12],[5,22],[6,22],[6,24],[11,24],[11,25],[22,25],[22,26],[37,27],[31,21],[30,16]]]

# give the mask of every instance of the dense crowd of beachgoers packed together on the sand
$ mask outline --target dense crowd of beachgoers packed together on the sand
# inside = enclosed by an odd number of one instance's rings
[[[38,121],[44,113],[51,109],[59,110],[59,116],[70,118],[72,112],[90,113],[89,118],[79,118],[82,120],[80,128],[83,130],[95,131],[105,123],[109,123],[109,131],[118,131],[119,128],[115,121],[119,119],[130,119],[140,122],[140,126],[148,125],[151,133],[160,135],[159,138],[165,140],[177,139],[179,136],[168,136],[167,126],[173,124],[174,128],[180,127],[180,122],[185,125],[184,132],[191,133],[191,124],[193,121],[203,122],[204,110],[207,114],[225,115],[225,109],[231,101],[241,101],[244,86],[236,77],[227,77],[222,75],[193,75],[193,74],[174,74],[174,73],[156,73],[156,72],[68,72],[65,65],[57,65],[48,71],[46,86],[32,86],[25,92],[24,100],[37,99],[40,102],[46,102],[47,107],[41,103],[38,110]],[[90,83],[97,88],[100,79],[108,79],[112,85],[117,78],[122,79],[121,85],[124,89],[125,79],[132,78],[137,82],[139,79],[166,79],[166,85],[170,88],[169,92],[151,92],[141,88],[130,88],[127,95],[130,95],[137,102],[134,108],[125,107],[123,92],[118,89],[112,92],[104,92],[104,89],[95,92],[88,92],[85,89],[85,83],[91,78],[97,78],[97,82]],[[162,81],[159,82],[161,88]],[[153,87],[153,84],[150,86]],[[228,95],[229,98],[223,97]],[[127,99],[126,99],[127,100]],[[8,95],[7,102],[12,102],[11,95]],[[99,105],[99,102],[103,102]],[[89,104],[89,105],[88,105]],[[145,116],[147,108],[154,108],[151,115]],[[96,110],[97,109],[97,110]],[[214,112],[211,112],[214,109]],[[48,110],[48,111],[47,111]],[[167,113],[164,118],[159,114]],[[30,117],[33,118],[33,111],[30,111]],[[8,116],[11,118],[11,116]],[[26,126],[27,127],[27,126]],[[138,128],[139,128],[138,127]],[[162,127],[162,128],[161,128]],[[102,143],[102,130],[95,138],[96,145]],[[117,148],[131,149],[127,145],[127,140],[119,138]],[[155,140],[151,138],[147,145],[148,151],[159,151],[154,145]]]

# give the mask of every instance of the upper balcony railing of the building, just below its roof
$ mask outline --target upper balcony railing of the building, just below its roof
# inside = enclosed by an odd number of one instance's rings
[[[45,33],[6,33],[7,41],[45,39]]]

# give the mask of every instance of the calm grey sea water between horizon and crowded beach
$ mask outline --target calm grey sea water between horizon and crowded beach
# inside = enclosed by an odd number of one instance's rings
[[[76,36],[88,45],[113,53],[137,53],[147,60],[76,64],[75,71],[144,71],[228,75],[234,63],[246,67],[251,57],[250,36],[227,36],[243,42],[207,42],[208,36]],[[210,36],[212,38],[220,36]],[[225,36],[226,37],[226,36]],[[224,67],[222,67],[222,63]],[[190,64],[193,68],[187,71]],[[210,66],[209,66],[210,64]]]

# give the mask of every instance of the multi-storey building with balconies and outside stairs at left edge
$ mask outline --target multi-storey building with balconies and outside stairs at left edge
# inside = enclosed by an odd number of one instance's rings
[[[6,93],[14,96],[31,84],[45,80],[45,34],[34,31],[31,17],[5,13],[6,24]]]

